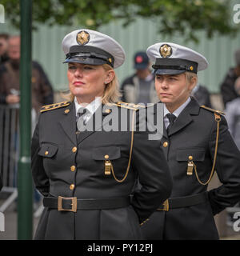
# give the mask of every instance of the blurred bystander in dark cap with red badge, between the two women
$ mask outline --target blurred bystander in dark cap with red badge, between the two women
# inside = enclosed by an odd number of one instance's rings
[[[154,87],[154,75],[150,71],[150,62],[146,53],[139,51],[134,54],[136,72],[122,82],[120,87],[122,102],[153,103],[158,102]]]

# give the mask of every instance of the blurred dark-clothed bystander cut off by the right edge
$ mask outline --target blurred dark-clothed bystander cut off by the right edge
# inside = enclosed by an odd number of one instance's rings
[[[227,102],[239,97],[237,92],[234,90],[234,83],[237,78],[240,77],[240,49],[235,51],[234,58],[236,63],[235,67],[230,68],[221,84],[221,94],[224,107],[226,107]]]

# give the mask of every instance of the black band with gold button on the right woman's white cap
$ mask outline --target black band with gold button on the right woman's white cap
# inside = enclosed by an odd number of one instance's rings
[[[154,70],[185,70],[198,73],[198,63],[182,58],[157,58],[152,66]]]

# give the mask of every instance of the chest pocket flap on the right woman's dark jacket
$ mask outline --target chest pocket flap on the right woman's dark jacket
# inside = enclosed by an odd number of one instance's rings
[[[188,161],[190,156],[193,157],[193,161],[203,161],[205,158],[205,150],[201,148],[192,148],[177,151],[177,161]]]

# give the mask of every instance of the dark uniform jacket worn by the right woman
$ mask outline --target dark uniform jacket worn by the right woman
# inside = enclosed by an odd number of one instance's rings
[[[198,105],[192,98],[171,127],[164,130],[161,147],[164,150],[174,180],[170,198],[188,197],[206,192],[193,170],[187,175],[192,156],[202,182],[210,177],[214,161],[217,122],[214,112]],[[214,215],[240,199],[240,153],[226,119],[221,115],[218,154],[215,170],[222,186],[206,192],[206,201],[194,206],[156,211],[142,231],[147,239],[218,239]]]

